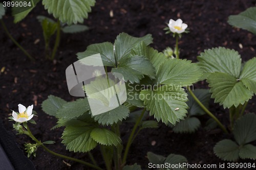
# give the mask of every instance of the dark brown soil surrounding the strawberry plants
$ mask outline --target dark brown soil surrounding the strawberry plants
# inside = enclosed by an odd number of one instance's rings
[[[196,57],[204,50],[212,47],[224,46],[233,48],[241,54],[244,61],[255,56],[256,36],[241,29],[232,28],[227,23],[231,14],[238,14],[248,7],[255,6],[256,1],[246,0],[215,0],[215,1],[102,1],[97,0],[89,19],[84,20],[84,25],[90,27],[90,31],[79,34],[62,34],[56,62],[45,60],[44,37],[37,15],[47,15],[42,5],[35,9],[22,21],[14,25],[13,17],[4,18],[11,35],[32,55],[36,62],[31,62],[22,51],[8,38],[3,27],[0,27],[0,68],[6,67],[0,74],[0,117],[4,120],[4,126],[12,131],[12,123],[6,117],[10,116],[10,109],[17,110],[19,103],[29,106],[34,104],[34,110],[38,112],[35,117],[37,125],[30,125],[32,133],[41,141],[54,140],[56,144],[49,145],[54,152],[75,157],[90,162],[88,154],[66,151],[61,143],[63,128],[50,131],[56,124],[56,119],[48,116],[41,110],[42,101],[53,94],[66,101],[76,98],[68,92],[65,70],[67,66],[77,61],[76,53],[83,52],[92,43],[105,41],[114,42],[116,36],[126,32],[135,37],[152,34],[154,43],[152,47],[159,51],[165,47],[174,47],[175,39],[170,34],[165,34],[163,28],[170,18],[181,18],[188,24],[189,34],[184,34],[179,47],[181,58],[197,62]],[[110,17],[110,10],[114,11],[114,17]],[[52,17],[52,15],[50,16]],[[53,17],[52,17],[53,18]],[[37,44],[34,41],[39,39]],[[243,45],[241,49],[239,43]],[[53,46],[54,41],[51,42]],[[200,82],[197,88],[207,88],[207,83]],[[255,96],[249,102],[246,112],[255,111]],[[214,113],[226,127],[229,125],[227,110],[211,100],[210,111]],[[205,125],[209,117],[201,117],[202,125]],[[133,125],[121,126],[121,137],[126,145]],[[13,131],[15,134],[15,132]],[[219,164],[221,161],[214,155],[214,145],[231,135],[224,134],[220,129],[205,131],[202,127],[194,134],[175,134],[172,129],[159,124],[158,129],[141,131],[131,146],[127,164],[137,162],[146,169],[148,160],[147,152],[167,156],[171,153],[180,154],[187,158],[190,164]],[[153,146],[152,141],[156,141]],[[16,142],[24,150],[25,142],[33,142],[26,135],[16,135]],[[255,142],[252,144],[256,144]],[[26,153],[25,153],[26,154]],[[92,151],[100,167],[104,168],[99,148]],[[82,164],[65,160],[71,167],[65,164],[59,157],[53,156],[39,148],[36,157],[30,157],[35,167],[40,169],[91,169]],[[253,160],[239,160],[238,162],[255,162]]]

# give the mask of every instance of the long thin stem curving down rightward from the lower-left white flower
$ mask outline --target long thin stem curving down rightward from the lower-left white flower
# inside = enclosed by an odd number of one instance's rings
[[[25,123],[25,124],[27,124],[27,123]],[[91,164],[91,163],[84,162],[84,161],[81,161],[81,160],[79,160],[79,159],[71,158],[71,157],[68,157],[68,156],[64,156],[64,155],[60,155],[60,154],[57,154],[57,153],[55,153],[55,152],[52,152],[51,150],[49,150],[48,148],[46,148],[44,144],[42,144],[39,140],[37,140],[37,139],[32,135],[31,131],[29,130],[28,125],[27,125],[27,130],[28,130],[28,132],[29,132],[29,136],[30,136],[34,141],[36,141],[38,144],[40,144],[40,147],[44,148],[44,149],[45,149],[47,152],[49,152],[50,154],[53,154],[53,155],[55,155],[55,156],[58,156],[58,157],[61,157],[61,158],[64,158],[64,159],[73,160],[73,161],[82,163],[82,164],[84,164],[84,165],[93,167],[93,168],[98,169],[98,170],[103,170],[103,169],[101,169],[100,167],[95,166],[95,165],[93,165],[93,164]]]

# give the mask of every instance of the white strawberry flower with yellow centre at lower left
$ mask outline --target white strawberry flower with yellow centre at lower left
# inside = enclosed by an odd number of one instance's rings
[[[33,105],[26,108],[22,104],[18,104],[19,114],[12,111],[13,120],[15,120],[15,122],[19,122],[19,123],[23,123],[23,122],[30,120],[34,116],[34,114],[32,114],[32,110],[33,110]]]

